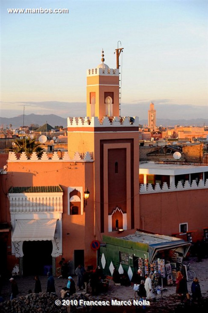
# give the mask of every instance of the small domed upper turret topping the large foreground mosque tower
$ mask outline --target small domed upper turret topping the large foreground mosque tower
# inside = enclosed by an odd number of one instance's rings
[[[87,116],[119,116],[119,69],[104,63],[87,70]]]

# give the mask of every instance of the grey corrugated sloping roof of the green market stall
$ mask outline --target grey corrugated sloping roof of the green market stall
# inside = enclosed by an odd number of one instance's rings
[[[175,249],[185,257],[191,246],[189,242],[183,239],[140,231],[136,231],[136,233],[127,235],[126,237],[120,237],[119,239],[135,242],[138,246],[141,244],[148,245],[149,262],[155,258],[157,252],[167,249]]]

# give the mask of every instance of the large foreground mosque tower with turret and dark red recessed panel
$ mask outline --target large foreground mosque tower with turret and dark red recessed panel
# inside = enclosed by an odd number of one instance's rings
[[[84,186],[90,191],[85,232],[87,236],[89,228],[94,239],[116,236],[118,229],[133,233],[140,227],[139,118],[120,116],[119,64],[109,68],[103,51],[101,61],[87,70],[87,116],[68,117],[67,123],[69,157],[89,160],[83,162]]]

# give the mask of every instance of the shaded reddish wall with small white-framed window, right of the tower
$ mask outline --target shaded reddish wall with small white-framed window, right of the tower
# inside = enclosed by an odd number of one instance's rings
[[[140,195],[140,228],[165,235],[179,233],[179,224],[196,230],[192,239],[202,239],[208,225],[207,189]]]

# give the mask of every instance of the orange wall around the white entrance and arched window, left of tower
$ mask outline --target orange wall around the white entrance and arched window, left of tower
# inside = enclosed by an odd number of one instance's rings
[[[90,243],[94,239],[93,201],[88,200],[83,215],[68,215],[67,197],[68,187],[82,186],[83,191],[88,187],[93,198],[93,162],[9,162],[7,174],[2,175],[2,184],[4,193],[0,198],[1,222],[8,223],[11,220],[7,198],[10,187],[60,185],[63,189],[62,256],[73,261],[74,249],[83,249],[88,251],[85,263],[96,265],[95,252],[90,249]],[[10,240],[9,237],[8,245]],[[9,259],[12,261],[14,257],[10,256]]]

